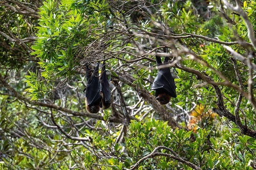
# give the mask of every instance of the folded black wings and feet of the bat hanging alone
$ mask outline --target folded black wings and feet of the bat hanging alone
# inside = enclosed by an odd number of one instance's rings
[[[156,56],[157,66],[168,64],[168,59],[169,57],[165,57],[164,63],[162,63],[161,57]],[[157,77],[155,78],[151,89],[156,90],[156,96],[158,96],[158,94],[164,89],[164,91],[166,91],[173,98],[177,97],[174,78],[172,74],[170,74],[169,67],[160,68],[158,70]]]

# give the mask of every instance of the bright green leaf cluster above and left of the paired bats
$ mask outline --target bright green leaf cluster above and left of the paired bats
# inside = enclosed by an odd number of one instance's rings
[[[52,81],[73,76],[83,61],[95,60],[95,54],[92,51],[86,52],[89,50],[84,47],[93,46],[105,34],[109,13],[108,4],[104,1],[70,0],[61,1],[59,5],[57,1],[49,0],[39,10],[41,18],[37,27],[38,39],[32,45],[34,52],[31,55],[40,59],[38,64],[44,69],[36,75],[41,78],[39,82],[48,83],[30,84],[27,90],[33,92],[32,100],[41,99],[52,91]],[[90,59],[90,56],[93,58]],[[30,72],[28,82],[33,76]]]

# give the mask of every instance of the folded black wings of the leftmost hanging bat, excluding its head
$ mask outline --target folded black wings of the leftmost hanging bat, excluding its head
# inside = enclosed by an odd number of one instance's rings
[[[92,71],[90,71],[89,67],[86,67],[87,72],[87,88],[86,90],[86,99],[87,99],[87,105],[88,106],[94,106],[99,103],[101,100],[100,95],[100,87],[99,87],[99,64],[95,67],[93,74],[91,74]]]

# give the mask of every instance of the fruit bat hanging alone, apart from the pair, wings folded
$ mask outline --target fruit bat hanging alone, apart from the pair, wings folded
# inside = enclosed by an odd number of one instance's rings
[[[164,58],[164,63],[161,61],[160,56],[156,56],[157,66],[168,64],[169,57]],[[170,98],[176,98],[176,86],[174,78],[170,74],[170,68],[159,68],[157,77],[155,78],[151,90],[156,91],[156,100],[160,105],[165,105],[170,101]]]

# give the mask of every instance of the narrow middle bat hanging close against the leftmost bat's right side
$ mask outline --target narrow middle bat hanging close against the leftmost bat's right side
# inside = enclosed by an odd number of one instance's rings
[[[101,68],[101,75],[99,80],[99,86],[100,86],[100,94],[102,96],[101,99],[101,106],[102,109],[108,109],[111,105],[111,91],[110,91],[110,84],[108,81],[108,77],[106,76],[106,70],[105,70],[105,61],[103,62],[103,66]]]

